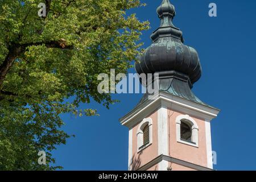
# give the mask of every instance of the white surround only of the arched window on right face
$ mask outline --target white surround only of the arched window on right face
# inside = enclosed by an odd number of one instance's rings
[[[180,138],[180,123],[181,121],[184,119],[185,122],[188,122],[191,126],[192,126],[192,142],[187,142],[185,140],[181,140]],[[198,126],[197,123],[195,121],[195,119],[189,117],[189,115],[179,115],[176,118],[176,140],[179,143],[184,143],[184,144],[188,144],[189,146],[193,146],[193,147],[199,147],[199,143],[198,143]]]

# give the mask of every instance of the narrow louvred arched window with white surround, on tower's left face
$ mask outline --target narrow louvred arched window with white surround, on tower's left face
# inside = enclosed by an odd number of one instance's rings
[[[139,124],[137,130],[137,148],[138,152],[150,146],[152,143],[152,119],[145,118]]]

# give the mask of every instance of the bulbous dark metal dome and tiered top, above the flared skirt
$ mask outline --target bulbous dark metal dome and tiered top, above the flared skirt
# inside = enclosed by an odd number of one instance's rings
[[[201,77],[201,64],[196,50],[183,44],[182,32],[172,23],[175,7],[163,0],[157,13],[160,27],[151,35],[152,44],[135,64],[138,74],[161,73],[164,75],[182,73],[189,78],[191,87]]]

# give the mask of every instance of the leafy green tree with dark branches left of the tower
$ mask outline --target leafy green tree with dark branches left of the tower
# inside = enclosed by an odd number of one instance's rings
[[[46,16],[39,17],[39,3]],[[61,113],[95,100],[100,73],[126,73],[141,52],[139,36],[148,28],[126,11],[139,0],[0,0],[0,169],[55,169],[51,151],[70,137]],[[74,98],[72,102],[65,101]],[[39,165],[38,152],[47,152]]]

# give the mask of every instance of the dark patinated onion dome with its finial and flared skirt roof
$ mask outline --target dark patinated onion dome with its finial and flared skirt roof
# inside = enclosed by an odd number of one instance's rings
[[[152,44],[146,48],[135,64],[138,74],[158,73],[158,89],[161,93],[168,93],[205,105],[191,88],[201,77],[201,64],[196,50],[184,44],[183,34],[172,23],[176,12],[169,0],[163,0],[156,10],[161,20],[160,26],[152,35]],[[143,86],[150,85],[142,82]],[[146,93],[142,102],[148,100],[151,94]]]

